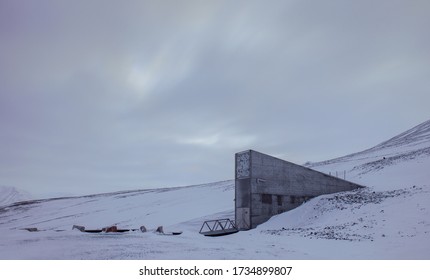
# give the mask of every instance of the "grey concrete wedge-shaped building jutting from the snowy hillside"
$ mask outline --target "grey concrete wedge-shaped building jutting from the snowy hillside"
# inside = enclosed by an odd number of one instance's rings
[[[322,194],[362,186],[253,150],[235,157],[236,227],[248,230]]]

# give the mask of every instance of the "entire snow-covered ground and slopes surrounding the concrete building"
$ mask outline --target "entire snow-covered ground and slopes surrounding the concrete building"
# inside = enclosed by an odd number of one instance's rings
[[[309,167],[367,188],[314,198],[223,237],[199,230],[234,218],[233,180],[21,201],[0,206],[0,259],[430,259],[430,121]],[[75,224],[149,230],[82,233]],[[155,234],[160,225],[183,234]],[[41,231],[23,230],[34,227]]]

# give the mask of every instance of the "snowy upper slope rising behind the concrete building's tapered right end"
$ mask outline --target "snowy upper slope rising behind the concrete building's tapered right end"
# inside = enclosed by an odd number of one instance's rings
[[[339,176],[346,171],[348,180],[390,190],[430,183],[429,159],[430,120],[368,150],[307,166]]]

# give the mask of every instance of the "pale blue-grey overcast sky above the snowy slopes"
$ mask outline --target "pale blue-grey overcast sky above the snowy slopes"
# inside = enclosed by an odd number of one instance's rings
[[[430,118],[430,1],[0,0],[0,185],[89,194],[303,164]]]

